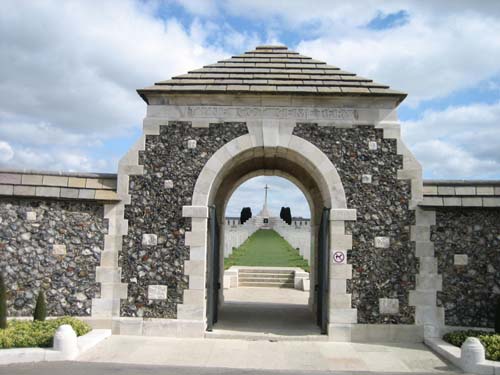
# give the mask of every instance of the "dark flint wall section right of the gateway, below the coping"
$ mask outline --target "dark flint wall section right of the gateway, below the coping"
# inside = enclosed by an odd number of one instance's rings
[[[445,323],[493,328],[500,296],[500,209],[436,209],[431,239],[443,277],[437,303],[445,308]],[[455,255],[467,255],[467,264],[455,262]]]

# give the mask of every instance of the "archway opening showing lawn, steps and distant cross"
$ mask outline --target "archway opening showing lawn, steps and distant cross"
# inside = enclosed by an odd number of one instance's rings
[[[315,254],[311,197],[288,178],[254,174],[226,202],[220,228],[223,288],[214,330],[319,334],[309,273]]]

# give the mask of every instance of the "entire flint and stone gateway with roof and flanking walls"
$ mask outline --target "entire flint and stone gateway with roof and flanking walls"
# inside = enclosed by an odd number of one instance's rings
[[[143,133],[117,175],[0,173],[11,316],[29,315],[43,288],[53,316],[203,337],[222,294],[228,200],[276,175],[311,209],[310,306],[329,339],[493,326],[500,182],[423,181],[400,135],[406,94],[282,46],[138,93]]]

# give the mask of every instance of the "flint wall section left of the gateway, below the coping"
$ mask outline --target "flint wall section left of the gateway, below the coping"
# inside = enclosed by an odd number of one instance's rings
[[[91,314],[107,223],[96,202],[0,198],[0,270],[9,316],[31,316],[40,288],[49,316]],[[59,255],[57,255],[59,254]]]

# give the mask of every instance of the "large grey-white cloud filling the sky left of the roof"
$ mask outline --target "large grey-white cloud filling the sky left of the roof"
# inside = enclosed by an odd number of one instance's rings
[[[146,107],[137,88],[226,55],[205,47],[195,27],[154,11],[132,0],[2,2],[0,139],[17,155],[8,165],[103,165],[89,147],[140,127]],[[78,161],[68,146],[79,148]]]

